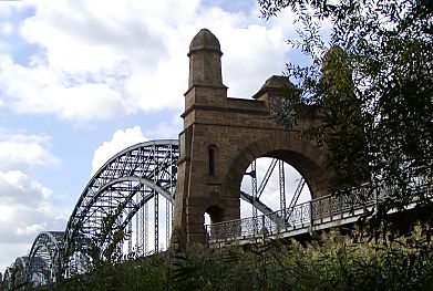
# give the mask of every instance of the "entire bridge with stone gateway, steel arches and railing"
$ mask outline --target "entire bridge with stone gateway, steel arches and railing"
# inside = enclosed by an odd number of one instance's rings
[[[351,224],[389,195],[391,188],[374,193],[367,186],[331,195],[329,153],[302,137],[302,129],[321,124],[323,116],[293,116],[285,100],[292,85],[282,76],[268,79],[251,100],[227,97],[221,55],[210,31],[195,35],[178,139],[141,143],[110,158],[84,187],[65,229],[39,233],[30,252],[6,270],[6,290],[164,251],[174,235],[181,247],[213,248]],[[261,157],[271,163],[259,183]],[[285,164],[302,176],[290,201]],[[277,165],[279,209],[272,209],[262,194]],[[244,178],[251,181],[249,193],[240,189]],[[414,189],[432,195],[431,181],[414,181]],[[311,200],[298,204],[305,187]],[[251,205],[250,218],[240,217],[240,199]]]

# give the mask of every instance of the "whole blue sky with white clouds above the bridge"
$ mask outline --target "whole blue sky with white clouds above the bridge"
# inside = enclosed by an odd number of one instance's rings
[[[302,60],[290,14],[266,21],[256,0],[0,0],[1,272],[65,228],[111,156],[177,138],[202,28],[219,39],[230,97]]]

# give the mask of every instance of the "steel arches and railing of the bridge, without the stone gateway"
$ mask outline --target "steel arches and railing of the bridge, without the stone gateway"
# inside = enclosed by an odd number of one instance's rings
[[[101,167],[81,194],[64,231],[43,231],[37,236],[30,253],[17,258],[4,273],[4,287],[53,283],[90,270],[92,263],[121,260],[164,251],[173,231],[173,204],[179,150],[175,139],[145,142],[128,147]],[[338,225],[352,224],[371,211],[392,188],[370,191],[367,186],[344,195],[330,195],[297,204],[298,189],[287,208],[274,211],[258,197],[266,188],[276,165],[272,159],[252,194],[241,191],[240,199],[252,205],[255,216],[203,226],[203,243],[215,248],[231,243],[251,243],[266,239],[293,237]],[[255,168],[251,167],[251,168]],[[257,170],[257,169],[256,169]],[[282,173],[281,173],[282,172]],[[257,185],[257,173],[245,173]],[[279,180],[285,178],[279,168]],[[432,184],[417,180],[417,190],[430,191]],[[281,193],[283,189],[279,189]],[[282,193],[281,205],[286,205]],[[258,211],[257,211],[258,209]],[[257,212],[261,215],[257,215]],[[124,239],[116,240],[118,233]],[[161,243],[161,239],[165,239]],[[118,256],[118,253],[117,253]]]

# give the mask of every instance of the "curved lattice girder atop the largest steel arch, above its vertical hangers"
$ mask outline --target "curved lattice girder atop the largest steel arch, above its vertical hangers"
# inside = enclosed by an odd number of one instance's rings
[[[101,231],[110,215],[115,215],[116,226],[124,228],[155,196],[172,202],[177,158],[177,141],[167,139],[137,144],[105,163],[89,181],[68,222],[65,259]]]

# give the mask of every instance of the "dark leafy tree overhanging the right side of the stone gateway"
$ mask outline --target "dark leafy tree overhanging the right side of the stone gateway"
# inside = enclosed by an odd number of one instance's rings
[[[288,42],[311,63],[287,65],[302,92],[291,103],[299,115],[313,108],[324,116],[307,136],[331,149],[336,188],[362,181],[372,190],[388,187],[384,210],[413,199],[431,206],[433,1],[258,2],[264,18],[290,9],[301,25]],[[313,106],[307,112],[305,105]],[[420,183],[430,185],[419,190]]]

